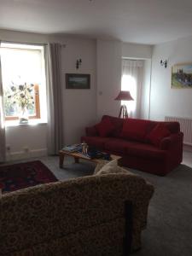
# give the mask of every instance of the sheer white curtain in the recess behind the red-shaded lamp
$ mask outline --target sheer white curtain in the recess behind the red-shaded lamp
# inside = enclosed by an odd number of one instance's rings
[[[121,90],[129,90],[134,101],[123,102],[130,117],[140,118],[143,61],[122,60]]]

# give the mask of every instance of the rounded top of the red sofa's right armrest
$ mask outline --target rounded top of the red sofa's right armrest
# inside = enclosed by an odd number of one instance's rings
[[[160,149],[167,150],[180,143],[183,144],[183,132],[178,132],[177,134],[172,134],[169,137],[163,138],[160,142]]]

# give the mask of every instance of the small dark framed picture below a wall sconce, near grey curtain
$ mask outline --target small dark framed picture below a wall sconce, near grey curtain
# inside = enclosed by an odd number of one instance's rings
[[[66,73],[66,89],[90,89],[90,74]]]

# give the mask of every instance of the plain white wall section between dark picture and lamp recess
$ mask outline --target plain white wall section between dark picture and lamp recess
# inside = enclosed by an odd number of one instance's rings
[[[96,41],[96,113],[117,116],[120,102],[114,101],[120,90],[121,50],[119,41]]]

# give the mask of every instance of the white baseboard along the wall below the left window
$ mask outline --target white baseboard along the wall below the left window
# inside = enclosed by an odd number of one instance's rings
[[[25,160],[32,157],[40,157],[45,155],[47,155],[47,148],[40,148],[40,149],[29,150],[28,152],[23,152],[23,151],[13,152],[13,153],[7,154],[6,158],[7,158],[7,161],[12,161],[12,160]]]

